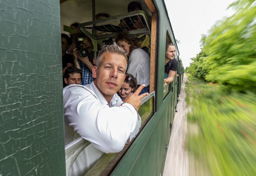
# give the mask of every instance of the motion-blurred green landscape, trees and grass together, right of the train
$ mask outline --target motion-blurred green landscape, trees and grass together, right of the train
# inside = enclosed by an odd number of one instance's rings
[[[251,176],[256,175],[256,1],[239,0],[229,8],[234,15],[202,36],[202,51],[185,69],[186,148],[204,167],[201,175]]]

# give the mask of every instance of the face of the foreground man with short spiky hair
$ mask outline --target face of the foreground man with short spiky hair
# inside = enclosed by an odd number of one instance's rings
[[[116,53],[105,53],[100,67],[93,67],[93,78],[101,94],[114,95],[125,79],[126,58]]]

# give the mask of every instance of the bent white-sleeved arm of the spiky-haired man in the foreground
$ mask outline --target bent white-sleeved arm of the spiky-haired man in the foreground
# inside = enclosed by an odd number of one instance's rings
[[[135,129],[138,114],[128,103],[109,108],[77,86],[63,91],[63,101],[65,122],[104,153],[120,152]]]

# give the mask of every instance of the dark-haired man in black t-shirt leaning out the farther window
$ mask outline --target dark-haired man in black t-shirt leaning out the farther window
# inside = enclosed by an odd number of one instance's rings
[[[164,79],[164,85],[173,81],[173,78],[178,69],[178,61],[174,59],[175,46],[172,43],[167,43],[165,47],[165,62],[164,62],[164,72],[168,73],[168,77]]]

